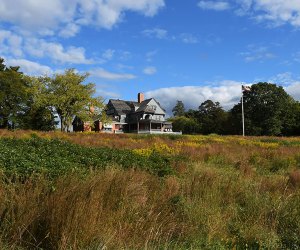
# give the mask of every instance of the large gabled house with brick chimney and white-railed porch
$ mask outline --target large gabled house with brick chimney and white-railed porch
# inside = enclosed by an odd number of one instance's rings
[[[106,114],[109,122],[97,121],[95,131],[106,133],[175,134],[172,123],[166,121],[166,111],[154,98],[146,99],[138,94],[137,101],[110,99]],[[75,119],[74,119],[75,121]],[[85,131],[84,123],[73,122],[74,131]],[[76,124],[81,124],[77,130]],[[88,127],[88,126],[87,126]],[[180,134],[180,133],[179,133]]]

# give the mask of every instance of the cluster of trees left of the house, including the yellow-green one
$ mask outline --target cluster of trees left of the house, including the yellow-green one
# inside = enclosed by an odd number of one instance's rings
[[[68,131],[75,116],[93,121],[103,108],[94,97],[95,85],[85,83],[88,74],[67,69],[52,77],[30,77],[19,67],[6,67],[0,58],[0,128],[53,130],[61,122]]]

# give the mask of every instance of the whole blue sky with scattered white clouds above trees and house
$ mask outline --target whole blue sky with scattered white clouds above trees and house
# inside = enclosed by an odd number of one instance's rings
[[[75,68],[96,95],[225,109],[241,84],[300,100],[299,0],[1,0],[0,57],[33,75]]]

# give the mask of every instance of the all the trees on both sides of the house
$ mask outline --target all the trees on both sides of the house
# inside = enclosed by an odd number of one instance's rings
[[[32,77],[19,68],[7,67],[0,58],[0,128],[50,131],[56,128],[57,115],[61,130],[68,131],[74,116],[85,121],[105,119],[103,100],[94,97],[95,85],[84,84],[88,74],[67,69],[53,77]],[[300,103],[282,87],[260,82],[244,89],[243,100],[246,135],[300,135]],[[186,111],[177,101],[172,111],[174,131],[242,134],[241,101],[229,111],[212,100]]]

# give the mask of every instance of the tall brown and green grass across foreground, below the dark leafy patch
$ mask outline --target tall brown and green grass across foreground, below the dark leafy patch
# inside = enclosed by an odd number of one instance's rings
[[[11,249],[297,249],[300,192],[285,176],[195,165],[159,179],[106,169],[0,185]],[[0,245],[1,246],[1,245]]]

